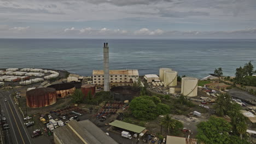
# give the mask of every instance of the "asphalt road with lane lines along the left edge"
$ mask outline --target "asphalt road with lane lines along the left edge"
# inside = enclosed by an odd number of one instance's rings
[[[10,129],[7,131],[7,143],[33,143],[24,125],[23,117],[20,115],[15,102],[10,98],[10,92],[0,90],[0,104]],[[7,98],[7,101],[4,99]]]

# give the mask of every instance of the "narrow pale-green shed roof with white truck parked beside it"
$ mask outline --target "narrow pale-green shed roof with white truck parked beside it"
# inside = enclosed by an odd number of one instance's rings
[[[131,123],[126,123],[126,122],[122,122],[122,121],[118,121],[118,120],[115,120],[114,122],[109,123],[109,125],[112,125],[114,127],[118,127],[118,128],[121,128],[121,129],[129,130],[129,131],[132,131],[132,132],[135,132],[135,133],[141,133],[141,131],[146,129],[146,128],[140,127],[138,125],[134,125],[134,124],[131,124]]]

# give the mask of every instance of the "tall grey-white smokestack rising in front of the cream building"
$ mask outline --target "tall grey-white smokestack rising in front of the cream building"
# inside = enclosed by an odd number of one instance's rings
[[[104,57],[104,91],[109,91],[109,54],[108,54],[108,43],[104,43],[103,57]]]

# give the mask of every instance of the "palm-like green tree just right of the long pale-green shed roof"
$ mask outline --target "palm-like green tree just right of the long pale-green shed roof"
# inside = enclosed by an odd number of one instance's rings
[[[168,135],[170,135],[170,130],[177,130],[183,128],[183,124],[176,119],[172,119],[169,115],[166,115],[161,119],[161,125],[164,125],[168,130]]]

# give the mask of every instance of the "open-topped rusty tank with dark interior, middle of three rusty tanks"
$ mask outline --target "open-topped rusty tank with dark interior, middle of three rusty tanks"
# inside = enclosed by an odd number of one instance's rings
[[[48,87],[55,88],[57,96],[61,98],[65,98],[69,94],[73,94],[75,91],[75,86],[72,83],[57,83]]]

